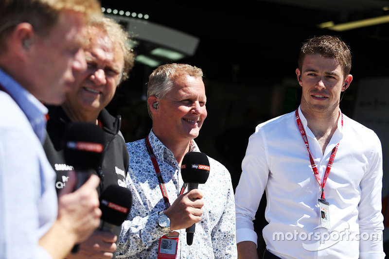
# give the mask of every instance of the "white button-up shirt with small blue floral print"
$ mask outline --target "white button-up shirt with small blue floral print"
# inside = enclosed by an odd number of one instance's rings
[[[150,144],[159,163],[170,204],[176,200],[183,181],[177,160],[151,130]],[[117,258],[157,259],[159,238],[164,235],[157,226],[158,212],[165,210],[150,156],[144,139],[127,143],[130,155],[127,186],[132,192],[132,208],[122,224]],[[195,141],[191,151],[199,152]],[[219,162],[209,157],[210,176],[200,184],[205,202],[202,221],[196,224],[194,241],[186,244],[185,229],[180,233],[177,258],[180,259],[236,259],[235,206],[230,173]]]

